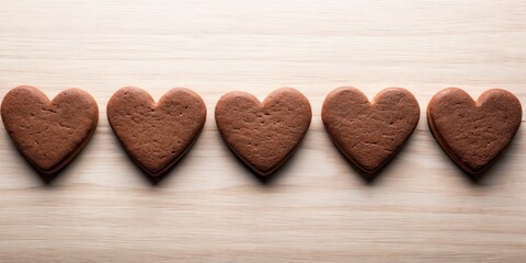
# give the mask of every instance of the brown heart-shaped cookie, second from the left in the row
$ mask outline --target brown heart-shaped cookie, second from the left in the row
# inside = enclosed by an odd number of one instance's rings
[[[107,119],[132,159],[152,176],[175,164],[197,139],[206,121],[201,96],[172,89],[156,104],[148,92],[125,87],[107,103]]]

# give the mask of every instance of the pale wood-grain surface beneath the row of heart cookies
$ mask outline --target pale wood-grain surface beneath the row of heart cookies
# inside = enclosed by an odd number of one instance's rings
[[[479,183],[434,141],[432,95],[494,87],[526,104],[519,0],[18,0],[0,4],[0,98],[78,87],[100,106],[91,142],[45,185],[0,128],[1,262],[524,262],[526,127]],[[208,107],[195,147],[157,186],[118,145],[106,102],[174,87]],[[422,118],[366,183],[333,147],[320,110],[354,85],[403,87]],[[270,184],[228,150],[214,106],[231,90],[295,87],[312,125]]]

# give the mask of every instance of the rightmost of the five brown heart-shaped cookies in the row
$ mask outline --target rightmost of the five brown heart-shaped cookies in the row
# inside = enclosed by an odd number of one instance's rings
[[[447,155],[466,172],[478,174],[512,141],[523,110],[508,91],[492,89],[477,102],[464,90],[448,88],[427,105],[431,132]]]

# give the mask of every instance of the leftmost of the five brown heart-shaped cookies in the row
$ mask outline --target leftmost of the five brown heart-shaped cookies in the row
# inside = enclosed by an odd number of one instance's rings
[[[2,121],[19,151],[43,174],[54,174],[85,146],[99,122],[95,100],[80,89],[53,101],[38,89],[21,85],[2,101]]]

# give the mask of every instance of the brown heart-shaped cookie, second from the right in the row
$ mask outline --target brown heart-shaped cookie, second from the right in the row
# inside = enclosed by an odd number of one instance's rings
[[[321,118],[343,155],[365,173],[375,174],[411,136],[420,107],[405,89],[385,89],[369,102],[359,90],[342,87],[327,95]]]

